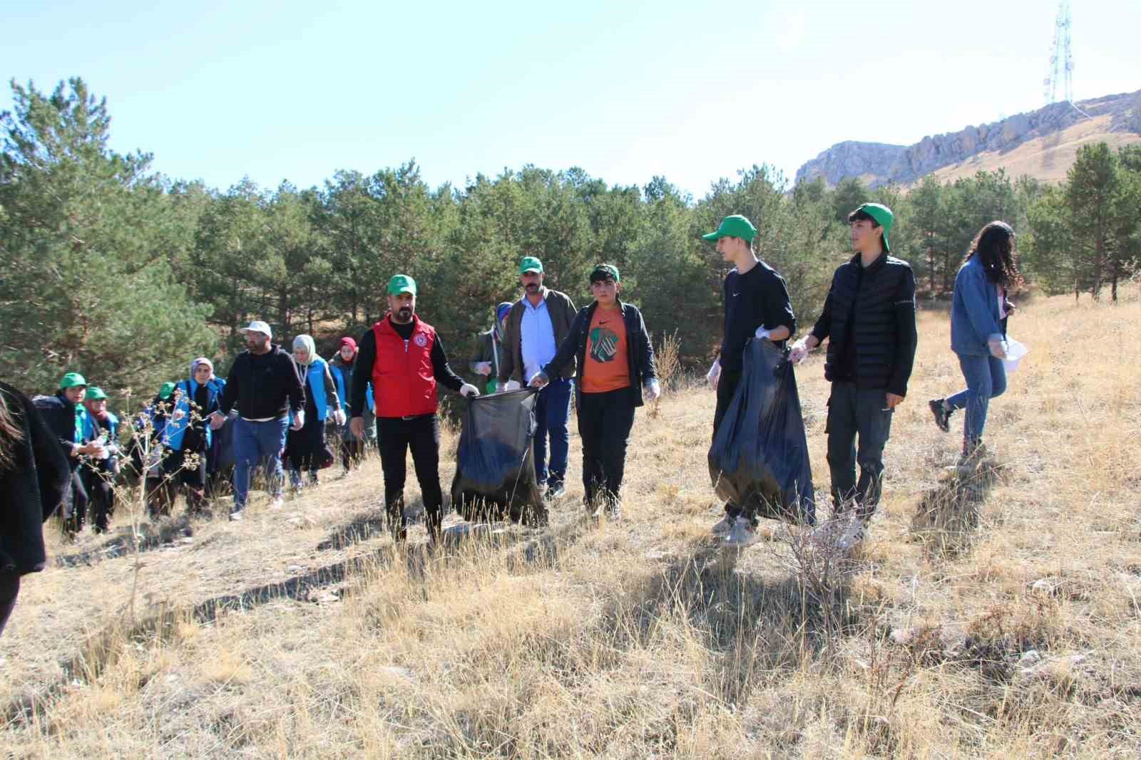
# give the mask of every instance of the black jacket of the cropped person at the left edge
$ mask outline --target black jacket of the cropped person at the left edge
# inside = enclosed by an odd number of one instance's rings
[[[14,466],[0,472],[0,572],[24,575],[47,564],[43,521],[63,500],[71,468],[27,397],[7,383],[0,383],[0,393],[24,432],[13,447]]]

